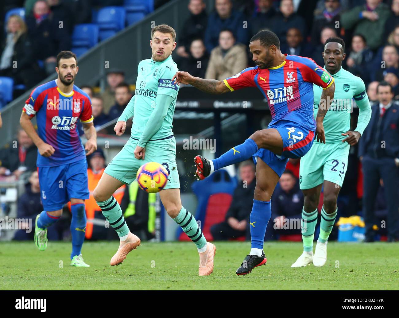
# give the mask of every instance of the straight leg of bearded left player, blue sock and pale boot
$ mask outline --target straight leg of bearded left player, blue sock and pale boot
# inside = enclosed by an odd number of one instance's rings
[[[85,241],[86,231],[86,211],[83,199],[71,198],[71,236],[72,236],[72,252],[71,266],[90,267],[83,261],[81,254],[82,245]]]

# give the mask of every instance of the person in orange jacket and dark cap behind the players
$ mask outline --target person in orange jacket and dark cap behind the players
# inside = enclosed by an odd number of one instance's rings
[[[89,168],[87,169],[87,181],[88,188],[90,192],[89,199],[85,200],[86,207],[86,239],[113,239],[115,238],[115,231],[112,227],[105,227],[105,217],[101,212],[100,207],[97,205],[94,197],[93,191],[100,181],[101,176],[105,170],[105,156],[101,148],[97,148],[93,154],[89,156]],[[113,196],[120,204],[122,201],[122,196],[124,194],[125,186],[121,186],[117,191],[114,192]],[[144,192],[144,191],[143,191]],[[117,239],[117,237],[116,237]]]

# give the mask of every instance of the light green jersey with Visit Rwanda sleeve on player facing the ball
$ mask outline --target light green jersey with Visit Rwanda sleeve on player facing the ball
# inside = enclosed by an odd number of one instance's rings
[[[134,114],[132,125],[132,138],[140,139],[144,127],[155,108],[155,99],[158,94],[173,97],[172,103],[166,113],[159,130],[150,140],[161,139],[173,135],[173,113],[176,108],[176,99],[179,85],[174,84],[172,77],[179,69],[170,55],[162,62],[144,59],[138,63],[136,91],[134,97]]]

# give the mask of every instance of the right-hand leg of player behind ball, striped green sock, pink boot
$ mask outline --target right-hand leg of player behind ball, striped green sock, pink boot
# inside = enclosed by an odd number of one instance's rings
[[[194,215],[182,206],[180,189],[164,189],[159,194],[168,215],[182,227],[184,233],[197,246],[199,253],[198,275],[210,275],[213,272],[213,258],[216,254],[216,247],[206,241]]]

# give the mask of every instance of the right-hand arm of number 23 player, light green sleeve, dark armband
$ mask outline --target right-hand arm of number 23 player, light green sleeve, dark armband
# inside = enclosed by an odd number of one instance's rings
[[[348,136],[342,140],[342,142],[348,142],[351,146],[354,146],[359,142],[359,139],[371,118],[371,105],[365,89],[365,85],[360,79],[357,85],[356,95],[353,97],[356,105],[359,107],[358,125],[356,126],[355,131],[347,131],[342,134],[342,136]]]

